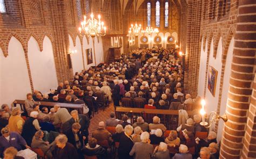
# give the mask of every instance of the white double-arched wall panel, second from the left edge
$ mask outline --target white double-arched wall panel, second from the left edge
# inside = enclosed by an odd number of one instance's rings
[[[37,41],[31,37],[28,44],[28,57],[34,89],[42,93],[55,89],[58,82],[50,39],[44,38],[43,51],[40,52]]]

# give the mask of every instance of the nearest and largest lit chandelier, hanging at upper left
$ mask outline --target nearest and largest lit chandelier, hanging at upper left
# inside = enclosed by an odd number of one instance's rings
[[[104,22],[100,21],[100,15],[98,15],[98,19],[94,18],[93,13],[91,13],[91,18],[86,20],[86,16],[84,16],[84,21],[81,22],[82,27],[79,27],[78,30],[80,33],[84,33],[87,37],[100,37],[106,35],[106,27],[104,26]]]

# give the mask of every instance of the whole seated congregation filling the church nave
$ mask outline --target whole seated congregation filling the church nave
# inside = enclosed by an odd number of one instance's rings
[[[56,103],[54,107],[41,102]],[[160,117],[132,124],[129,114],[100,121],[90,132],[90,119],[113,102],[117,106],[179,110],[177,126],[168,131]],[[82,104],[83,114],[59,103]],[[0,110],[0,154],[19,158],[17,151],[40,149],[48,158],[219,158],[217,134],[200,125],[200,97],[184,92],[184,72],[173,48],[136,49],[119,61],[76,73],[48,93],[35,90],[25,110],[3,104]],[[188,116],[186,111],[192,111]],[[114,127],[114,132],[109,131]],[[197,138],[197,132],[207,137]],[[113,150],[114,149],[114,150]],[[113,151],[112,151],[113,150]]]

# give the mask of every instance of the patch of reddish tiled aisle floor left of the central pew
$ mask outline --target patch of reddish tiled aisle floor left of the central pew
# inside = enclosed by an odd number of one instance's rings
[[[98,124],[100,121],[105,122],[106,119],[109,119],[109,114],[112,111],[114,111],[113,103],[111,103],[109,107],[106,107],[105,111],[100,109],[99,114],[95,113],[95,116],[91,119],[91,122],[90,122],[89,137],[91,137],[92,132],[98,128]]]

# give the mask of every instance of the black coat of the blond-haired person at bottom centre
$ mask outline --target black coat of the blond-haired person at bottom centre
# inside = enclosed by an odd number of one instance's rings
[[[132,159],[133,156],[130,156],[130,151],[133,147],[133,141],[128,138],[124,133],[120,137],[120,143],[118,147],[118,158],[122,159]]]

